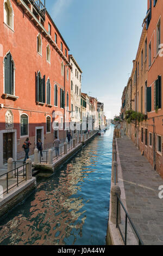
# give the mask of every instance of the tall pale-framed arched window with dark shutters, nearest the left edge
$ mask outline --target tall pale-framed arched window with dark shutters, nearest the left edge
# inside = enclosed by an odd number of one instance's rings
[[[14,95],[15,68],[11,53],[4,57],[4,93]]]

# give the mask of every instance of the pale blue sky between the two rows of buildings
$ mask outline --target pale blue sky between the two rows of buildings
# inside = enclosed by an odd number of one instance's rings
[[[119,115],[147,0],[46,0],[46,8],[83,71],[82,92],[104,102],[107,118]]]

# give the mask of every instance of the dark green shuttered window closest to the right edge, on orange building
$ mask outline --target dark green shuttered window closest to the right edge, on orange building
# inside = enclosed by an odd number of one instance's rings
[[[154,109],[161,108],[161,76],[154,82]]]

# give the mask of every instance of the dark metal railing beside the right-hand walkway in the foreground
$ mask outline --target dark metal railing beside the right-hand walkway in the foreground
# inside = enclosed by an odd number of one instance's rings
[[[116,228],[118,228],[119,231],[120,231],[120,234],[121,234],[121,236],[122,236],[122,240],[123,240],[123,242],[124,242],[124,245],[127,245],[127,220],[129,220],[129,222],[130,222],[130,224],[131,224],[131,227],[133,228],[133,230],[134,230],[134,232],[135,232],[135,234],[136,234],[136,237],[137,237],[137,239],[139,240],[139,245],[143,245],[143,242],[142,242],[142,240],[141,240],[141,238],[140,238],[140,235],[139,235],[139,233],[137,232],[137,230],[136,230],[136,228],[135,228],[133,222],[131,221],[131,219],[130,219],[130,217],[129,217],[129,215],[128,215],[128,212],[126,211],[126,209],[125,209],[125,207],[124,207],[124,205],[123,205],[123,203],[122,203],[120,197],[118,197],[118,194],[116,194],[116,196],[117,196]],[[120,202],[120,204],[122,205],[122,208],[123,208],[123,210],[124,210],[124,212],[125,212],[125,214],[126,214],[124,236],[123,236],[123,234],[122,234],[120,225],[118,224],[118,210],[119,210],[119,209],[118,209],[118,203],[119,203],[119,202]]]

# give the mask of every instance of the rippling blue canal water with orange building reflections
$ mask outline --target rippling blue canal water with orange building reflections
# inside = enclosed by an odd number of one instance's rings
[[[0,245],[105,245],[114,126],[0,221]]]

